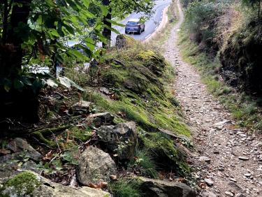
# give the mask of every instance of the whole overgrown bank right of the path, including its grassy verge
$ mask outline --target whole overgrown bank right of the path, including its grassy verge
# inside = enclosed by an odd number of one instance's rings
[[[262,130],[261,16],[259,2],[182,1],[184,59],[201,71],[210,92],[239,126]]]

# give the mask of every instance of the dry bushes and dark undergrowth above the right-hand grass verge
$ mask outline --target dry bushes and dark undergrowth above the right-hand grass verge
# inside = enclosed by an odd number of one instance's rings
[[[261,94],[261,23],[256,3],[194,1],[185,27],[198,50],[220,59],[219,73],[229,85]]]

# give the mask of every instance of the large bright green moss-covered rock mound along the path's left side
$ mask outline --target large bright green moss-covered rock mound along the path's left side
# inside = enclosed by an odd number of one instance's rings
[[[154,50],[138,43],[125,50],[111,50],[110,61],[101,65],[102,87],[115,89],[117,99],[101,92],[89,92],[89,99],[101,111],[115,114],[119,122],[136,122],[140,131],[140,147],[150,149],[162,168],[172,166],[177,173],[189,172],[184,157],[173,139],[164,136],[159,129],[168,129],[176,135],[190,137],[190,131],[179,115],[178,103],[167,89],[173,82],[173,68]],[[112,61],[117,59],[117,61]],[[145,134],[145,135],[144,135]],[[143,136],[144,135],[144,136]]]

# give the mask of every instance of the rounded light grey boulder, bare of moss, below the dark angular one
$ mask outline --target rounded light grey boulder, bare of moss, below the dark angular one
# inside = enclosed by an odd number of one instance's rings
[[[84,185],[108,182],[117,174],[117,167],[108,153],[96,147],[87,147],[80,155],[76,168],[78,182]]]

